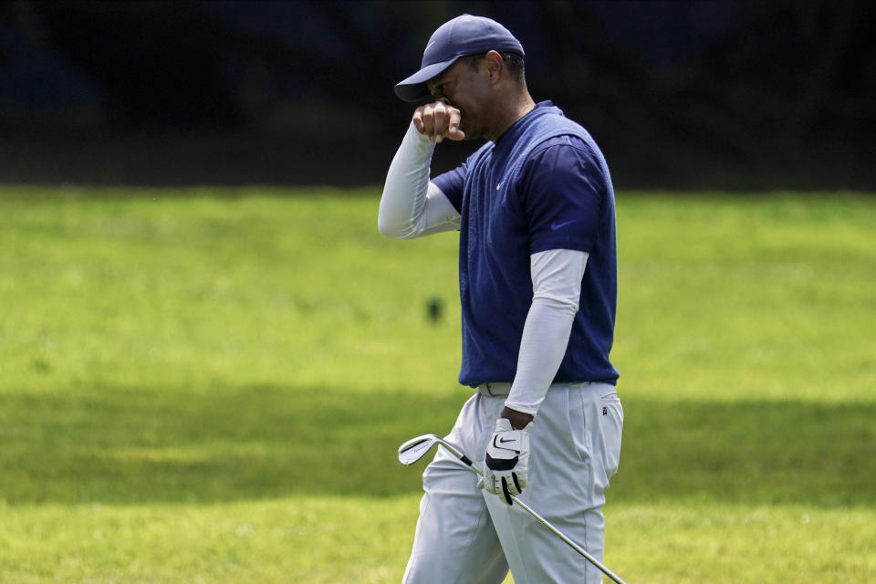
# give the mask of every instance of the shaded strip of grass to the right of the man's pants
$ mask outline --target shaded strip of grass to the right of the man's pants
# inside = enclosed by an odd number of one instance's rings
[[[616,500],[876,503],[876,402],[624,404]]]

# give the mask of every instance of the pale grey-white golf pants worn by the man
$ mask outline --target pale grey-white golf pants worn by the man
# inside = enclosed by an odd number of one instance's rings
[[[506,393],[506,384],[478,388],[446,438],[481,468]],[[618,468],[622,427],[613,386],[555,384],[530,434],[520,499],[600,561],[603,491]],[[508,568],[515,584],[601,582],[600,570],[547,527],[476,483],[477,474],[439,446],[422,474],[425,494],[404,584],[501,584]]]

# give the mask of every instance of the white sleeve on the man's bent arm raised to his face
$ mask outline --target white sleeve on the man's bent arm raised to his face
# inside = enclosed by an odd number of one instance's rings
[[[411,122],[383,185],[377,215],[381,234],[409,239],[459,229],[459,213],[429,181],[434,150],[435,145]]]

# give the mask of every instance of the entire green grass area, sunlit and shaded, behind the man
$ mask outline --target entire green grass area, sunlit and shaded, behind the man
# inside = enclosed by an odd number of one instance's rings
[[[0,191],[0,581],[401,579],[395,448],[467,390],[454,235],[381,237],[377,197]],[[606,562],[876,579],[876,199],[620,193],[618,220]]]

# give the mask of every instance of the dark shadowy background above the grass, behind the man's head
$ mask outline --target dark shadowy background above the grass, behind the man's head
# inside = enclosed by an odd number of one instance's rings
[[[867,0],[12,0],[0,182],[381,183],[412,112],[392,86],[464,12],[520,39],[533,97],[590,130],[617,188],[876,190]]]

